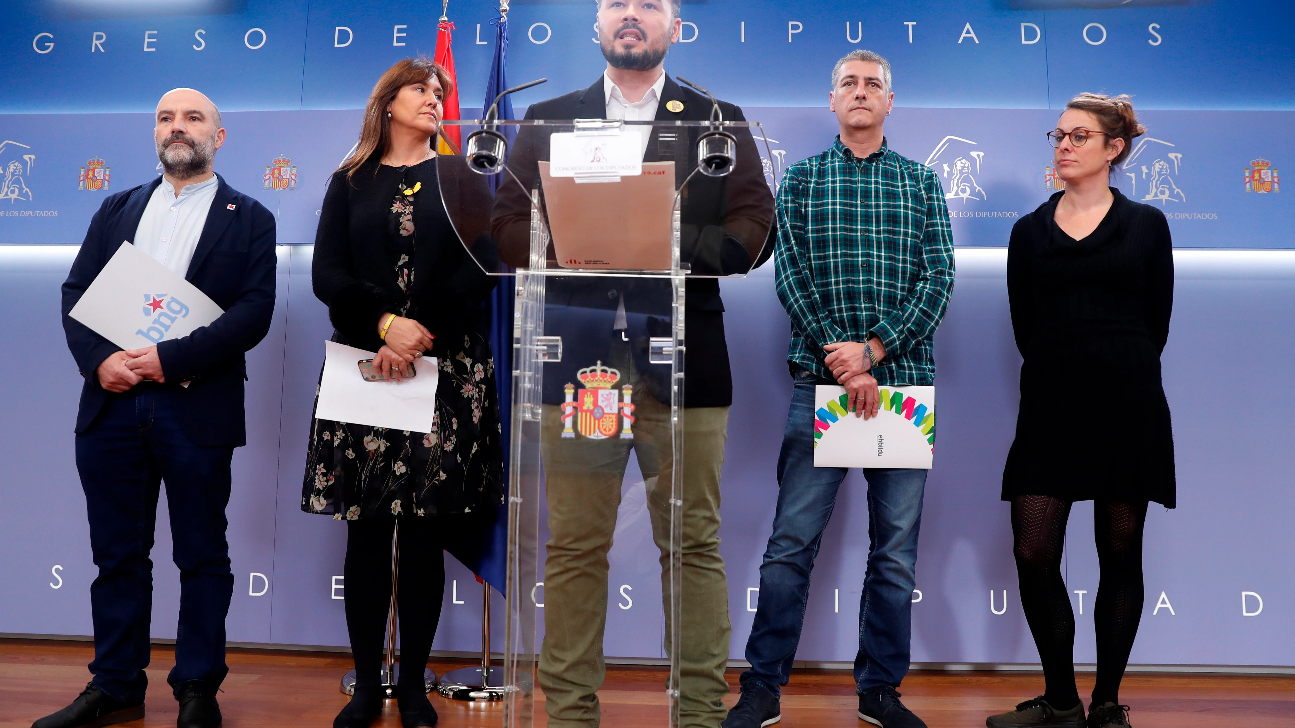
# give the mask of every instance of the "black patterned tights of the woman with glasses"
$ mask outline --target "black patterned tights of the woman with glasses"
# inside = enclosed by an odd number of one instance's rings
[[[1075,687],[1075,613],[1061,576],[1068,500],[1041,495],[1011,501],[1020,604],[1044,665],[1044,700],[1057,710],[1079,705]],[[1102,576],[1093,622],[1097,685],[1093,702],[1119,705],[1120,680],[1142,618],[1142,527],[1147,501],[1097,499],[1094,536]]]

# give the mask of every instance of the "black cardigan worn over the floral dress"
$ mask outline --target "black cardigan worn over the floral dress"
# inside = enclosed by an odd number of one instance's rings
[[[496,279],[467,255],[445,216],[435,159],[412,167],[369,162],[351,180],[334,172],[315,232],[311,280],[315,295],[328,306],[334,341],[377,351],[378,319],[399,308],[403,297],[390,242],[391,202],[401,181],[422,183],[413,198],[414,280],[407,316],[436,337],[431,355],[444,356],[447,346],[461,348],[464,334],[484,336],[482,302]]]

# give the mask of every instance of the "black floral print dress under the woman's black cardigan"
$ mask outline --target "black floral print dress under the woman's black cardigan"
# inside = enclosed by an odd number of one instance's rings
[[[391,273],[404,291],[399,315],[409,310],[414,282],[414,196],[423,192],[420,198],[429,202],[429,192],[439,196],[434,181],[409,181],[398,185],[387,231],[398,253]],[[439,374],[430,433],[315,418],[302,510],[354,521],[467,513],[474,504],[497,503],[501,434],[488,343],[465,336],[461,350],[440,359]]]

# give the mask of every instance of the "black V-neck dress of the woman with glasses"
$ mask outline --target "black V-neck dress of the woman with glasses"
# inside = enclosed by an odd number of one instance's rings
[[[1111,188],[1097,229],[1074,240],[1052,196],[1011,228],[1008,298],[1024,363],[1002,499],[1176,501],[1160,352],[1173,307],[1164,214]]]

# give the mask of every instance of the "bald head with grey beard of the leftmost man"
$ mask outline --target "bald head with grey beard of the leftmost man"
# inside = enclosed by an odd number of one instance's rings
[[[154,123],[158,159],[172,184],[211,176],[216,149],[225,144],[225,130],[210,98],[192,88],[174,88],[158,100]]]

